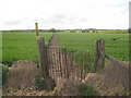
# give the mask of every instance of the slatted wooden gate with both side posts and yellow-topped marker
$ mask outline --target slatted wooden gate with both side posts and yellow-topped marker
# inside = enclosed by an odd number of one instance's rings
[[[55,34],[49,44],[53,40]],[[59,78],[84,81],[88,72],[95,72],[104,68],[105,41],[95,41],[94,63],[91,62],[90,52],[68,52],[66,48],[45,45],[44,38],[38,37],[36,23],[36,38],[38,48],[39,69],[43,76],[51,77],[56,82]]]

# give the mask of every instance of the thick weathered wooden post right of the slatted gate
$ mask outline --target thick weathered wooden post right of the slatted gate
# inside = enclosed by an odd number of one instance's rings
[[[95,40],[95,71],[99,71],[105,65],[105,40]]]

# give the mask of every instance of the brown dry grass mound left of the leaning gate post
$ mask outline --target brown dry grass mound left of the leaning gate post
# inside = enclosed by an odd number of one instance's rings
[[[37,75],[40,74],[35,62],[26,60],[13,62],[5,88],[33,89]]]

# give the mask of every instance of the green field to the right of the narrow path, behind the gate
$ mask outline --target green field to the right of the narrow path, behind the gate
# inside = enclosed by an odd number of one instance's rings
[[[103,34],[103,33],[64,33],[57,34],[59,45],[68,48],[70,52],[86,52],[90,50],[94,58],[94,41],[104,39],[106,41],[106,53],[121,61],[129,61],[129,34]]]

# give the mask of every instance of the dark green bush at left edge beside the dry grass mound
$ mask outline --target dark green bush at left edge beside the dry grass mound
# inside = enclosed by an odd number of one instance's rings
[[[4,85],[5,82],[7,82],[7,78],[8,78],[8,75],[9,75],[9,68],[8,65],[3,65],[3,64],[0,64],[0,73],[2,72],[2,83],[0,83],[0,85]]]

